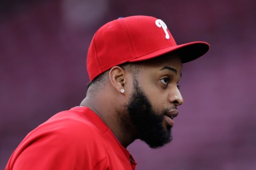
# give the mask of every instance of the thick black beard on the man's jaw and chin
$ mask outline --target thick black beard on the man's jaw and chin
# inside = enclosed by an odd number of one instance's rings
[[[163,126],[164,114],[167,111],[154,111],[135,78],[133,79],[133,86],[133,94],[126,106],[130,121],[126,123],[132,124],[137,139],[145,141],[150,148],[161,148],[172,140],[171,126],[166,128]]]

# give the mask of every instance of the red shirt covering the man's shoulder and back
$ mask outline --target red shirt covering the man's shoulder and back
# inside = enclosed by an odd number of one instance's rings
[[[98,115],[87,107],[74,107],[31,131],[5,170],[122,170],[135,169],[136,164]]]

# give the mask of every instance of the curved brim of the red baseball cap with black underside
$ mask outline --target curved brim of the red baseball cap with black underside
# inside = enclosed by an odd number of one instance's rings
[[[202,42],[202,41],[195,41],[191,43],[186,43],[186,44],[181,44],[173,47],[160,49],[153,53],[150,53],[138,58],[134,58],[129,62],[149,60],[150,58],[155,58],[163,54],[175,52],[181,58],[182,63],[187,63],[187,62],[196,60],[196,58],[203,56],[209,50],[209,48],[210,48],[210,45],[208,43]]]

